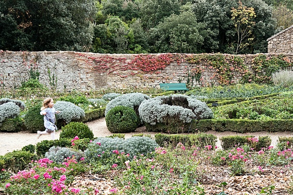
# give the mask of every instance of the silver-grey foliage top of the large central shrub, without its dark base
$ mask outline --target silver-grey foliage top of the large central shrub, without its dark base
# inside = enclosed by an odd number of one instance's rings
[[[212,110],[206,103],[187,95],[158,96],[144,101],[139,106],[139,116],[151,125],[165,123],[168,119],[190,123],[192,119],[213,118]]]

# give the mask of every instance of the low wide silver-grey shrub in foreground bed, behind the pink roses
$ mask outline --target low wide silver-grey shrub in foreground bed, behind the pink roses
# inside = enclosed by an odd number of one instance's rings
[[[136,155],[146,155],[159,147],[154,139],[149,137],[97,138],[84,151],[87,161],[99,161],[113,155],[113,150],[129,154],[130,159]]]

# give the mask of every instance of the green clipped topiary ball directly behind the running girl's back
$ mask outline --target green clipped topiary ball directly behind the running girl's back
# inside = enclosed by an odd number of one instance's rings
[[[24,125],[32,133],[45,130],[44,116],[40,115],[41,107],[41,104],[38,104],[28,110],[24,115]]]

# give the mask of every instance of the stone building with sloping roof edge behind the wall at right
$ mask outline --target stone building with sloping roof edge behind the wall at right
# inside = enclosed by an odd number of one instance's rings
[[[268,53],[293,53],[293,25],[267,39]]]

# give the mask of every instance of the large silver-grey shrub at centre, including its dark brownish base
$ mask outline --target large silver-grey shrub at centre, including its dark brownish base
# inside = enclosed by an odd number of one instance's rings
[[[139,115],[149,131],[187,132],[193,119],[211,119],[212,110],[206,103],[187,95],[158,96],[139,106]]]

